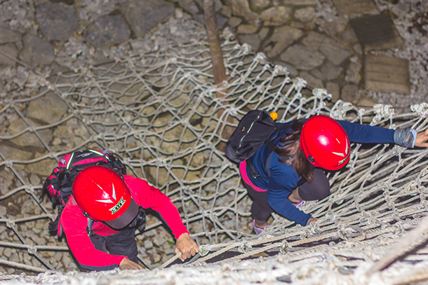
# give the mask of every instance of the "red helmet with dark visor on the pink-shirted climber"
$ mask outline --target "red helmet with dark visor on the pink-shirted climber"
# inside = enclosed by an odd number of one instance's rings
[[[100,165],[86,167],[73,182],[73,196],[83,211],[95,221],[123,228],[138,214],[125,181],[112,169]]]

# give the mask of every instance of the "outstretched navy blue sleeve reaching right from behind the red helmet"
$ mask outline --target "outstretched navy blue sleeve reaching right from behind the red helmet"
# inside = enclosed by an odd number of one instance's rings
[[[349,140],[361,144],[394,144],[395,130],[371,125],[349,123],[345,120],[337,120],[345,129]]]

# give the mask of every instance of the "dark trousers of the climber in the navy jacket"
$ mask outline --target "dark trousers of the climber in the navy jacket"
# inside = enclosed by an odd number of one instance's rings
[[[253,204],[251,204],[253,218],[258,221],[267,221],[270,214],[274,212],[267,202],[267,191],[256,191],[245,181],[242,183],[253,198]],[[305,182],[298,187],[297,193],[305,201],[321,200],[330,194],[330,183],[326,174],[319,168],[314,169],[314,179],[310,183]]]

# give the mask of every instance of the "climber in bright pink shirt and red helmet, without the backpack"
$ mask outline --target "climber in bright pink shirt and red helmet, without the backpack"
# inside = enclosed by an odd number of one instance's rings
[[[95,165],[77,174],[72,191],[60,222],[69,248],[86,270],[142,269],[135,228],[144,224],[147,208],[159,212],[173,231],[181,260],[199,252],[170,198],[143,179],[122,178]]]

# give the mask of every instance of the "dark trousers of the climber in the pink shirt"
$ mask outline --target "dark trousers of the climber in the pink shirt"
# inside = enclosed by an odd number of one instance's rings
[[[137,242],[135,242],[135,229],[126,229],[116,232],[113,235],[91,235],[91,242],[95,246],[95,249],[100,251],[108,252],[117,256],[128,256],[129,260],[138,263],[138,248]],[[88,267],[79,264],[85,270],[110,270],[110,267]],[[117,266],[117,265],[116,265]]]

